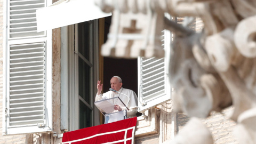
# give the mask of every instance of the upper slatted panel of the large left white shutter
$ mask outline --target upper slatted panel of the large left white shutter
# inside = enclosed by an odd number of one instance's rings
[[[42,37],[37,33],[36,10],[45,7],[46,0],[9,0],[9,39]]]

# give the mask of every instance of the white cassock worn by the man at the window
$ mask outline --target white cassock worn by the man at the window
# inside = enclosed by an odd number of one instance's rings
[[[124,89],[123,87],[121,87],[121,89],[118,92],[126,94],[130,97],[130,102],[127,105],[127,108],[129,108],[129,110],[127,110],[127,117],[130,117],[130,118],[135,117],[136,113],[138,112],[138,108],[137,108],[138,97],[137,97],[136,93],[132,90]],[[119,97],[126,105],[126,103],[129,101],[129,99],[125,95],[120,94],[120,93],[108,91],[106,93],[103,93],[103,95],[96,94],[95,101],[101,100],[103,98],[110,99],[110,98],[114,98],[114,97]],[[125,109],[125,107],[121,107],[121,108],[123,110]],[[118,110],[115,110],[113,112],[116,112],[116,111],[118,111]]]

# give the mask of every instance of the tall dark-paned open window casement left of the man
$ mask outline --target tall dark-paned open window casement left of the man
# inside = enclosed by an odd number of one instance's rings
[[[98,80],[98,20],[90,20],[67,28],[62,33],[61,53],[61,129],[74,131],[99,125],[99,111],[94,107]],[[67,36],[65,38],[65,36]],[[62,43],[62,44],[63,44]],[[68,111],[68,112],[67,112]]]

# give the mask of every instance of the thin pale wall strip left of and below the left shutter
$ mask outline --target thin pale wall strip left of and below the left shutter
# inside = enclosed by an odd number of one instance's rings
[[[3,114],[3,0],[0,0],[0,144],[26,143],[26,135],[3,136],[2,114]]]

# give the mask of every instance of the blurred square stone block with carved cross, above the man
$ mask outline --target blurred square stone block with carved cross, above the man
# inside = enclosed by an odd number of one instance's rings
[[[113,13],[107,42],[101,54],[110,57],[164,57],[161,35],[164,12],[152,11],[150,1],[95,0],[104,12]]]

